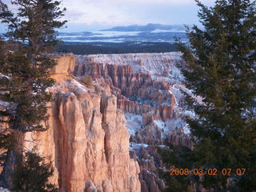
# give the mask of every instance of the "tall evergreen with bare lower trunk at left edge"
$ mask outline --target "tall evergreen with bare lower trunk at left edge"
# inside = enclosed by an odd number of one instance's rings
[[[14,0],[18,13],[13,14],[0,1],[0,21],[6,23],[8,49],[0,54],[0,101],[10,103],[14,110],[2,111],[0,115],[9,124],[14,136],[14,147],[7,152],[0,184],[10,186],[10,174],[15,159],[22,154],[24,134],[43,131],[43,122],[48,119],[46,103],[51,94],[46,90],[53,86],[50,69],[55,65],[48,54],[58,45],[56,28],[66,21],[59,21],[65,9],[61,2],[52,0]],[[6,78],[7,77],[7,78]],[[10,141],[10,139],[8,139]]]

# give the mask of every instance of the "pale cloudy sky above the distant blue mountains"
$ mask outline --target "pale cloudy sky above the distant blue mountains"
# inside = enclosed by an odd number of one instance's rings
[[[212,6],[214,0],[201,0]],[[10,5],[9,0],[2,0]],[[66,28],[61,31],[102,30],[113,26],[196,24],[198,6],[194,0],[62,0],[66,7]],[[15,10],[10,6],[10,10]],[[0,32],[4,30],[0,26]]]

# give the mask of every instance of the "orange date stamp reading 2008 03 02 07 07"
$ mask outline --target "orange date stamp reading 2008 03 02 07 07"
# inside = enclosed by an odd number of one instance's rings
[[[188,168],[170,168],[170,175],[226,175],[226,176],[242,176],[246,174],[246,168],[223,168],[222,170],[218,170],[217,168],[209,168],[204,170],[202,168],[189,170]]]

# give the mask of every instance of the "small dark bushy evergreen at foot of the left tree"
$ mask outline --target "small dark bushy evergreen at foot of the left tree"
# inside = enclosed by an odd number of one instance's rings
[[[50,184],[49,178],[54,174],[50,162],[33,152],[26,152],[25,157],[18,158],[17,168],[14,170],[14,192],[58,192],[56,186]]]

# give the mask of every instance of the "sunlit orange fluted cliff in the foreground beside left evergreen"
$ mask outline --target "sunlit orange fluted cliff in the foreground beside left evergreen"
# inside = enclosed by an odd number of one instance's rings
[[[64,58],[59,58],[62,64]],[[90,90],[68,74],[74,57],[53,74],[57,84],[50,103],[49,129],[26,134],[26,149],[54,161],[52,182],[61,191],[140,191],[138,162],[129,156],[129,133],[117,98],[110,92]],[[65,72],[66,71],[66,72]]]

